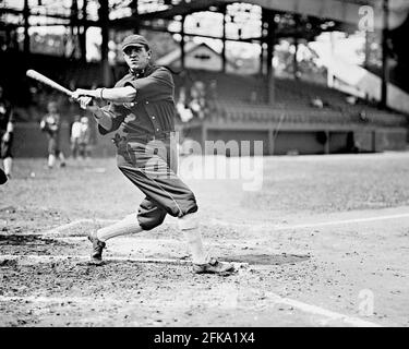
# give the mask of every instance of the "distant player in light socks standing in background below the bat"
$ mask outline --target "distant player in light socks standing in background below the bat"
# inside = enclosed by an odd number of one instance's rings
[[[65,157],[60,149],[61,120],[57,109],[57,104],[50,101],[47,105],[47,111],[48,113],[41,119],[39,127],[48,136],[48,168],[53,168],[57,157],[60,160],[60,167],[64,167]]]

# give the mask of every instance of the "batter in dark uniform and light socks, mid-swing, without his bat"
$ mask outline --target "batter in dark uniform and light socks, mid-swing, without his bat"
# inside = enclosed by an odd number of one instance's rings
[[[219,262],[205,251],[197,229],[196,198],[177,176],[171,72],[151,63],[152,51],[143,36],[128,36],[122,52],[129,73],[113,88],[80,88],[74,98],[94,113],[101,134],[116,131],[118,167],[146,197],[137,214],[89,233],[92,261],[101,262],[107,240],[154,229],[169,214],[179,218],[195,273],[232,272],[231,264]]]

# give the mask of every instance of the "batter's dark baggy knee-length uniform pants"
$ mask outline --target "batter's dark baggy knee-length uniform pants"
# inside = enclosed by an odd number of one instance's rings
[[[117,164],[145,198],[137,210],[142,229],[159,226],[167,214],[183,217],[197,210],[193,192],[177,176],[177,147],[170,140],[117,143]]]

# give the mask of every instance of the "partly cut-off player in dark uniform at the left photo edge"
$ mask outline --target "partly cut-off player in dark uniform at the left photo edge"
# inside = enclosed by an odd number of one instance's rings
[[[4,174],[11,177],[13,145],[13,109],[9,100],[3,96],[3,87],[0,86],[0,157],[3,160]]]

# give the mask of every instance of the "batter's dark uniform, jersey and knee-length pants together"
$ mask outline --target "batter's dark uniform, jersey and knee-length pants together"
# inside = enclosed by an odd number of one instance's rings
[[[116,87],[133,86],[134,103],[109,104],[112,128],[117,131],[117,164],[122,173],[145,195],[137,213],[144,230],[160,225],[167,214],[183,217],[197,210],[192,191],[177,176],[173,101],[175,84],[169,70],[148,65],[144,73],[127,74]]]

